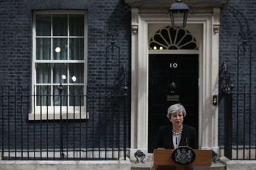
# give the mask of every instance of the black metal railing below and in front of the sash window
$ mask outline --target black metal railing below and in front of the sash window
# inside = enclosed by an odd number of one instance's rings
[[[103,90],[102,90],[103,89]],[[127,155],[127,94],[88,87],[87,95],[31,95],[1,87],[0,152],[3,160],[117,160]],[[125,88],[124,88],[125,89]],[[60,97],[39,106],[36,97]],[[79,100],[62,104],[61,97]],[[46,100],[48,101],[48,100]]]

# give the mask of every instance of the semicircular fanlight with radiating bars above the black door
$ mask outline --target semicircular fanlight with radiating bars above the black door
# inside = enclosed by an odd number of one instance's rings
[[[198,50],[195,37],[187,29],[166,26],[149,41],[150,50]]]

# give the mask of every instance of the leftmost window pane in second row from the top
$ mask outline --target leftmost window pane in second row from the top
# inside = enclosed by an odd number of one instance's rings
[[[41,60],[51,59],[51,39],[50,38],[36,39],[36,59],[41,59]]]

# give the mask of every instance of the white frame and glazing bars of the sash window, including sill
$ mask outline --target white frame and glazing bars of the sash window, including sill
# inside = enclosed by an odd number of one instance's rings
[[[56,15],[56,14],[65,14],[65,15],[74,15],[82,14],[85,16],[85,27],[84,27],[84,59],[81,60],[52,60],[52,43],[51,43],[51,60],[36,60],[36,15],[45,14],[45,15]],[[52,22],[51,22],[52,25]],[[52,26],[51,26],[52,29]],[[52,32],[52,30],[51,30]],[[29,113],[29,120],[40,120],[40,119],[60,119],[60,112],[62,113],[62,119],[88,119],[88,113],[86,112],[86,97],[83,100],[83,106],[36,106],[34,97],[35,85],[46,85],[46,84],[36,84],[36,70],[35,64],[37,63],[83,63],[84,64],[84,83],[77,84],[79,86],[84,86],[84,96],[86,95],[86,86],[87,86],[87,66],[88,66],[88,12],[85,10],[45,10],[45,11],[35,11],[33,13],[33,56],[32,56],[32,111]],[[39,36],[40,37],[40,36]],[[51,33],[51,40],[54,37]],[[62,36],[63,37],[63,36]],[[64,38],[69,39],[69,35]],[[79,36],[80,37],[80,36]],[[68,43],[69,44],[69,43]],[[69,55],[69,53],[68,53]],[[68,76],[67,76],[68,77]],[[51,86],[56,86],[57,84],[47,84]],[[68,83],[67,83],[68,85]],[[76,85],[76,84],[72,84]],[[52,95],[52,90],[51,90]],[[52,102],[52,100],[51,100]],[[68,101],[67,101],[68,103]]]

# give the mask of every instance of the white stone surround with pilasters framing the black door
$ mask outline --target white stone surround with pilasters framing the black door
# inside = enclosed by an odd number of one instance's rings
[[[218,28],[220,9],[212,13],[188,16],[190,32],[201,27],[199,51],[166,51],[163,53],[199,53],[199,149],[213,149],[218,153],[218,106],[213,106],[213,95],[218,95]],[[140,13],[132,8],[132,99],[131,99],[131,160],[141,150],[148,149],[148,81],[150,25],[168,24],[168,15]],[[194,30],[195,32],[198,30]]]

